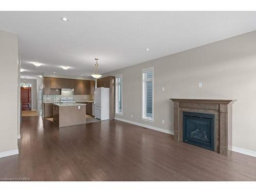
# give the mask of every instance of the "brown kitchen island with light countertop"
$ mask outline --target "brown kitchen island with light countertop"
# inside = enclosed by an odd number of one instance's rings
[[[77,102],[53,103],[53,122],[58,127],[86,123],[86,104]]]

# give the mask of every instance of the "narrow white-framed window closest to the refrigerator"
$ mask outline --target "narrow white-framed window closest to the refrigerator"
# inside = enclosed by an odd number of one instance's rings
[[[116,113],[123,114],[123,77],[122,75],[116,76]]]

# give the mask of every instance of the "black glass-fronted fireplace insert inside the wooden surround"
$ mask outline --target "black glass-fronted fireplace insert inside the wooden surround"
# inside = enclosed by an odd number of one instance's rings
[[[214,114],[183,112],[183,142],[214,151]]]

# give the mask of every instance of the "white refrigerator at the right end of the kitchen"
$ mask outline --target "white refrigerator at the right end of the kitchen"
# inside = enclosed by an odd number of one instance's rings
[[[110,119],[110,88],[96,88],[94,95],[94,117]]]

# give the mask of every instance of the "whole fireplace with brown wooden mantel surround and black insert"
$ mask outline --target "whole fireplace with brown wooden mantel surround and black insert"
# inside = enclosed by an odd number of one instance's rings
[[[175,140],[201,146],[222,155],[230,154],[232,103],[236,100],[170,100],[174,101]]]

